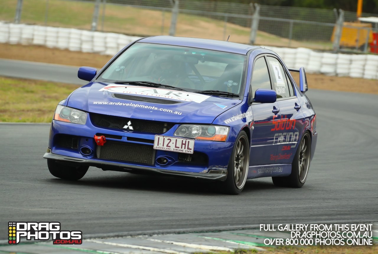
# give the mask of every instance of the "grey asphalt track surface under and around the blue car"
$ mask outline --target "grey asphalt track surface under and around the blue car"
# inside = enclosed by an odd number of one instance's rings
[[[376,222],[378,96],[322,90],[307,95],[318,115],[319,137],[304,187],[278,188],[263,178],[247,181],[238,196],[217,193],[213,182],[92,167],[80,181],[57,179],[42,158],[48,124],[0,124],[0,225],[59,221],[62,229],[88,237],[259,223]],[[5,230],[0,239],[6,239]]]

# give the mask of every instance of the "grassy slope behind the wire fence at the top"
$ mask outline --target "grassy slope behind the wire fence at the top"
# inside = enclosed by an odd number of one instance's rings
[[[2,0],[0,20],[13,21],[16,5],[17,0]],[[90,2],[49,0],[48,16],[45,22],[46,0],[25,0],[23,1],[21,23],[90,29],[93,9],[94,3]],[[102,26],[101,5],[98,30],[137,36],[161,35],[162,17],[163,12],[158,10],[107,4],[104,25]],[[170,18],[170,11],[164,12],[163,34],[165,35],[169,32]],[[176,35],[223,40],[224,25],[225,23],[222,20],[180,13],[178,15]],[[227,23],[226,35],[231,35],[230,41],[248,43],[249,34],[250,28]],[[258,31],[256,44],[286,47],[288,46],[288,39]],[[332,43],[292,41],[291,46],[331,49]]]

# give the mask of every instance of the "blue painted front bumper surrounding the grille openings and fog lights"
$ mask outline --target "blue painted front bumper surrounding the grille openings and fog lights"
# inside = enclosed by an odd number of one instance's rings
[[[169,131],[164,133],[164,136],[173,136],[175,130],[177,129],[178,124],[172,127]],[[184,159],[180,159],[179,153],[174,151],[163,151],[155,150],[155,156],[151,157],[152,161],[147,162],[136,162],[136,161],[125,161],[118,158],[105,158],[98,156],[97,145],[94,141],[93,135],[96,133],[101,133],[101,135],[118,135],[121,139],[106,138],[107,141],[118,142],[122,145],[138,145],[144,146],[147,149],[153,147],[153,140],[155,134],[145,134],[137,132],[127,132],[124,130],[112,130],[99,128],[94,126],[90,118],[87,119],[85,125],[72,124],[69,122],[61,122],[53,120],[51,123],[50,130],[50,140],[48,148],[51,150],[52,155],[63,156],[61,158],[73,158],[81,162],[88,162],[88,164],[94,165],[99,168],[107,170],[110,165],[119,166],[119,168],[145,168],[147,170],[153,170],[157,172],[183,172],[183,175],[189,173],[200,173],[200,176],[207,174],[211,170],[227,170],[229,158],[232,153],[233,143],[232,142],[216,142],[216,141],[205,141],[205,140],[196,140],[194,145],[194,153],[201,155],[199,159],[194,159],[189,161],[189,163]],[[102,134],[103,133],[103,134]],[[57,143],[57,137],[59,135],[74,135],[77,138],[75,148],[67,148],[59,145]],[[97,135],[97,134],[96,134]],[[137,139],[137,140],[136,140]],[[105,145],[110,143],[105,143]],[[93,153],[91,155],[85,156],[79,150],[81,147],[89,147]],[[130,153],[131,154],[131,153]],[[157,159],[161,156],[166,156],[171,159],[172,162],[168,165],[161,165],[157,163]],[[204,157],[203,157],[204,156]],[[144,157],[147,158],[147,157]],[[204,158],[201,160],[201,158]],[[192,158],[193,159],[193,158]],[[73,162],[71,160],[71,162]],[[91,162],[91,163],[89,163]],[[150,164],[151,163],[151,164]],[[205,177],[208,178],[208,177]],[[212,178],[212,177],[210,177]]]

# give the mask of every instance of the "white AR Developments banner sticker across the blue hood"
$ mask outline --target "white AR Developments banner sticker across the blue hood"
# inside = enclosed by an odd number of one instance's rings
[[[109,84],[102,87],[99,91],[108,91],[112,93],[127,93],[136,95],[147,95],[167,99],[177,99],[179,101],[194,101],[196,103],[201,103],[205,99],[209,98],[209,95],[203,95],[199,93],[190,93],[178,90],[169,90],[156,87],[145,87],[145,86],[129,86],[129,85],[119,85],[119,84]]]

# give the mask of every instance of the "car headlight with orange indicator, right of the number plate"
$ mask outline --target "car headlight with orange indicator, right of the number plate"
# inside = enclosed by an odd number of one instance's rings
[[[219,125],[181,124],[174,136],[212,141],[226,141],[230,128]]]

